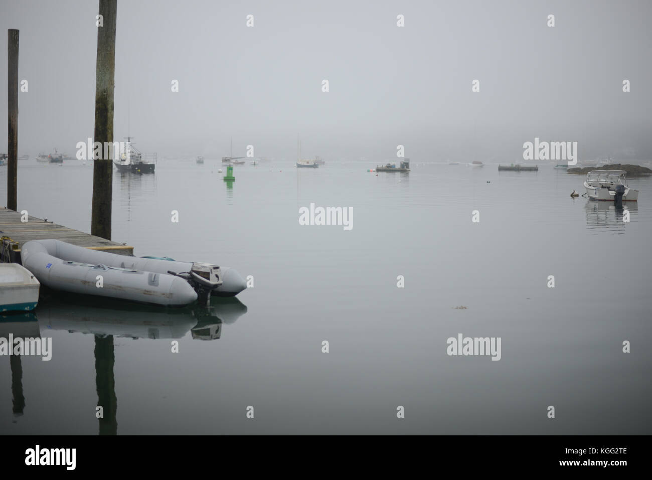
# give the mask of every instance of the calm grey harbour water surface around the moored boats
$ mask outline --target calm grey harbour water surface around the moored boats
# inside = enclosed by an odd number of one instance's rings
[[[630,179],[625,223],[552,164],[373,166],[246,164],[231,189],[217,160],[115,172],[113,240],[254,288],[209,310],[50,295],[0,322],[53,342],[51,361],[0,357],[0,432],[652,433],[652,179]],[[20,162],[18,207],[88,232],[92,183],[90,162]],[[353,207],[353,229],[300,226],[311,202]],[[501,360],[447,355],[458,333],[501,337]]]

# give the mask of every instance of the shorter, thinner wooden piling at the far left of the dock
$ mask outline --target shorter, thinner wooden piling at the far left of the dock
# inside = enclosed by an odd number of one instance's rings
[[[7,208],[18,210],[18,36],[7,30]]]

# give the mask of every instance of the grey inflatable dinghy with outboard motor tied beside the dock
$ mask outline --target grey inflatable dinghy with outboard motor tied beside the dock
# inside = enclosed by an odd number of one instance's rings
[[[100,252],[59,240],[32,240],[21,260],[53,290],[158,305],[187,305],[211,295],[233,296],[246,284],[233,269],[210,263],[171,262]]]

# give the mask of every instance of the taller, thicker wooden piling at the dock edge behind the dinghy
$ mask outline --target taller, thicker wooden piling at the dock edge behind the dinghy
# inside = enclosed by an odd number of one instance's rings
[[[113,86],[115,82],[115,20],[117,0],[100,0],[103,26],[97,27],[95,68],[95,142],[113,142]],[[102,148],[102,151],[104,149]],[[111,153],[112,154],[112,153]],[[113,155],[110,155],[113,157]],[[91,235],[111,239],[113,161],[93,162]]]

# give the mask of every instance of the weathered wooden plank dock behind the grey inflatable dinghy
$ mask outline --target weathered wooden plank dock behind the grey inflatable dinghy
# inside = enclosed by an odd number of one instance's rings
[[[20,248],[23,243],[30,240],[55,239],[63,242],[91,248],[92,250],[104,250],[121,255],[133,255],[134,247],[121,243],[96,237],[90,233],[80,232],[74,228],[67,228],[46,221],[43,218],[27,218],[27,222],[21,221],[22,215],[7,208],[0,208],[0,237],[3,237],[1,247],[3,258],[6,261],[8,253],[11,262],[20,262]],[[8,241],[7,241],[8,237]]]

